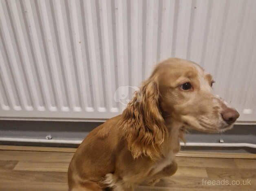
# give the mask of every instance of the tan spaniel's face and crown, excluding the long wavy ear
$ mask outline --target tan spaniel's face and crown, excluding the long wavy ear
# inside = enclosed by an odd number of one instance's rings
[[[193,62],[168,59],[156,67],[154,75],[158,76],[161,109],[187,127],[222,132],[232,128],[239,117],[212,93],[212,76]]]

